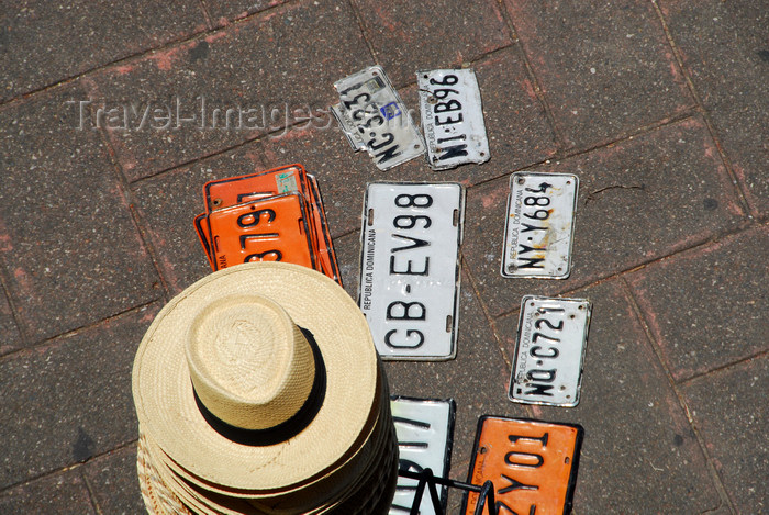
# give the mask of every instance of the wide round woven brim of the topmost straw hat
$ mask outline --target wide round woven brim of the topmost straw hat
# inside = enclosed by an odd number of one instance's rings
[[[325,363],[326,393],[317,415],[301,433],[276,445],[225,438],[205,422],[194,401],[185,357],[187,331],[201,305],[233,294],[264,295],[280,304],[314,335]],[[365,429],[376,390],[376,350],[355,302],[322,273],[278,262],[223,269],[174,298],[145,334],[133,369],[143,430],[191,473],[243,490],[287,489],[332,469]]]

